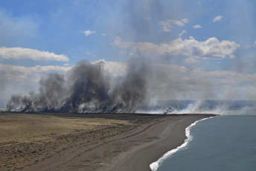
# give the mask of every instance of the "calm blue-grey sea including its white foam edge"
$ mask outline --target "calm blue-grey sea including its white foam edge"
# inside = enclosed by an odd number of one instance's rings
[[[186,135],[185,143],[151,164],[151,170],[256,170],[256,109],[199,120],[186,129]]]

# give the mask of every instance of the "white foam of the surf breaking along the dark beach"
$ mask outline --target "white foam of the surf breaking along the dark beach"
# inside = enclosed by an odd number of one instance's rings
[[[211,117],[207,117],[207,118],[204,118],[202,120],[206,120],[206,119],[209,119],[209,118],[211,118]],[[192,126],[195,126],[196,123],[198,123],[198,122],[200,122],[202,120],[197,120],[196,122],[194,122],[190,126],[188,126],[186,128],[186,130],[185,130],[185,134],[187,136],[187,139],[184,141],[184,143],[182,143],[182,145],[178,146],[176,149],[172,149],[169,152],[166,152],[163,156],[161,156],[161,158],[159,158],[159,160],[157,160],[157,161],[153,162],[152,164],[150,164],[150,169],[152,171],[156,171],[161,166],[163,161],[166,160],[167,158],[169,158],[170,155],[173,155],[174,153],[178,152],[181,149],[185,149],[186,146],[188,146],[188,143],[193,140],[193,136],[191,135],[191,128],[192,128]]]

